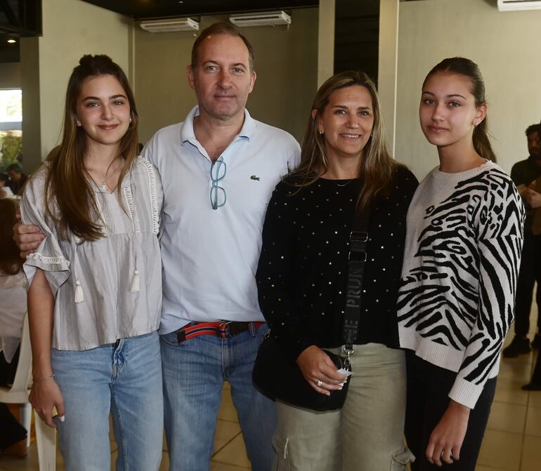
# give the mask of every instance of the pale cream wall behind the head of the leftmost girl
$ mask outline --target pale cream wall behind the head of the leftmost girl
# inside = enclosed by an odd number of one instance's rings
[[[46,0],[42,8],[43,36],[37,39],[37,61],[35,48],[29,53],[27,47],[36,39],[21,44],[21,62],[31,62],[22,65],[25,74],[39,77],[39,91],[22,90],[23,126],[25,120],[31,120],[36,125],[39,123],[41,131],[40,138],[35,126],[28,132],[23,127],[22,154],[27,171],[32,171],[58,144],[67,79],[82,55],[105,53],[126,74],[130,70],[132,22],[129,18],[81,0]],[[23,81],[31,82],[29,77],[23,77]],[[34,102],[25,105],[25,96],[32,96]],[[32,144],[25,144],[29,140]],[[27,152],[30,149],[32,154]]]

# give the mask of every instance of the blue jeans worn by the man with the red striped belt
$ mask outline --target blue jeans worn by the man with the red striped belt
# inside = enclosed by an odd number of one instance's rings
[[[231,385],[252,470],[271,469],[276,408],[252,384],[257,350],[267,330],[264,324],[234,337],[203,335],[183,343],[177,343],[176,332],[161,336],[169,470],[210,470],[224,380]]]

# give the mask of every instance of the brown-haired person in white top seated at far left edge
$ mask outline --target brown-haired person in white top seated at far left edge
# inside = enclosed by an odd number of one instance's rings
[[[25,274],[13,241],[15,201],[0,199],[0,386],[13,383],[17,370],[22,321],[26,312]],[[0,404],[0,453],[25,456],[26,430]]]

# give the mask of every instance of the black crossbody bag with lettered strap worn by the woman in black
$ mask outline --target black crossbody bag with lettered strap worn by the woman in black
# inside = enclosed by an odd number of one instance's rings
[[[359,329],[369,215],[369,209],[356,213],[353,218],[353,230],[349,236],[348,286],[343,327],[344,355],[323,350],[334,361],[337,369],[344,368],[348,371],[351,371],[350,356],[353,353],[353,342],[357,338]],[[313,387],[302,376],[299,366],[287,356],[271,331],[268,331],[259,346],[252,371],[255,387],[266,397],[273,401],[280,399],[292,406],[313,411],[341,409],[348,394],[349,378],[348,376],[341,390],[331,391],[330,396],[313,390]]]

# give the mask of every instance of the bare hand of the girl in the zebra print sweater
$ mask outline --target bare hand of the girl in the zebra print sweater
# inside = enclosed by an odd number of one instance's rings
[[[433,465],[451,464],[460,458],[460,449],[468,427],[470,409],[451,400],[443,417],[432,431],[426,459]]]

